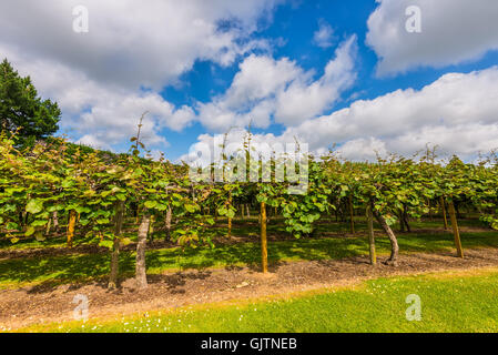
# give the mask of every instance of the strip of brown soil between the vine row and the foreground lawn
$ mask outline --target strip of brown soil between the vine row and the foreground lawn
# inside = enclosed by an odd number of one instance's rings
[[[498,248],[466,250],[464,260],[451,253],[402,254],[397,267],[366,257],[341,261],[280,263],[267,275],[248,267],[190,271],[150,275],[145,291],[134,290],[132,278],[110,292],[104,282],[79,285],[33,286],[0,291],[0,331],[37,323],[71,321],[77,294],[90,301],[90,317],[122,316],[162,308],[349,285],[363,280],[498,266]]]

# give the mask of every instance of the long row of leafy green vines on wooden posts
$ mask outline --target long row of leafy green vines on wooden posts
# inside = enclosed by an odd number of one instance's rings
[[[457,253],[464,256],[459,240],[458,206],[476,211],[490,227],[498,229],[498,164],[490,154],[476,163],[457,156],[437,161],[427,150],[411,159],[392,155],[375,163],[349,162],[333,152],[319,159],[308,156],[308,186],[305,194],[289,194],[288,182],[263,182],[274,178],[274,166],[260,171],[253,182],[194,182],[186,164],[172,164],[164,158],[143,158],[146,152],[139,134],[128,154],[108,154],[52,138],[29,150],[17,148],[16,135],[0,135],[0,226],[2,235],[16,243],[20,237],[43,242],[51,231],[64,227],[68,246],[74,235],[110,248],[109,287],[116,287],[119,254],[131,243],[123,236],[123,222],[136,223],[136,282],[146,287],[145,250],[151,226],[159,226],[166,240],[182,247],[213,247],[210,229],[216,217],[226,221],[231,237],[236,213],[260,210],[262,270],[267,270],[266,222],[270,211],[278,211],[286,231],[295,237],[314,235],[318,220],[332,213],[345,215],[354,233],[354,214],[368,221],[370,261],[376,262],[373,221],[389,237],[387,263],[396,264],[397,239],[393,225],[409,229],[410,219],[447,212],[455,234]],[[247,133],[244,150],[251,150]],[[224,162],[235,159],[223,153]],[[261,164],[260,162],[254,162]],[[226,172],[228,174],[228,172]],[[234,172],[232,172],[234,173]],[[246,211],[244,211],[246,210]]]

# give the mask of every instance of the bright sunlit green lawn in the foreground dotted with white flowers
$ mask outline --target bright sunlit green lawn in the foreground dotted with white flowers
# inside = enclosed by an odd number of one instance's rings
[[[407,321],[406,297],[421,301]],[[24,332],[498,332],[498,270],[378,278],[315,294],[207,304]]]

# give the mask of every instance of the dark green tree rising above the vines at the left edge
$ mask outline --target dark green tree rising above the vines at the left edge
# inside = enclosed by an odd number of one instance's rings
[[[22,78],[7,59],[0,63],[1,129],[18,131],[20,143],[43,139],[59,129],[61,111],[57,102],[42,100],[31,83]]]

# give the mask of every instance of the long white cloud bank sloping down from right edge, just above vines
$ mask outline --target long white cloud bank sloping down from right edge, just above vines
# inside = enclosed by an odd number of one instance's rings
[[[498,148],[498,68],[448,73],[421,90],[358,100],[284,132],[312,149],[337,143],[348,158],[366,151],[411,154],[427,143],[465,156]]]

